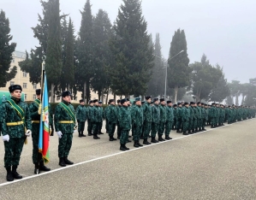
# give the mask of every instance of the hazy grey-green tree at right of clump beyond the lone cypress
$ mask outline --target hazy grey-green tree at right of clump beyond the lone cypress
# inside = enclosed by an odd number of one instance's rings
[[[217,65],[216,68],[222,72],[222,75],[220,79],[217,81],[217,85],[211,90],[211,93],[209,95],[209,101],[220,103],[220,102],[223,102],[223,100],[226,97],[229,97],[230,89],[229,89],[227,79],[225,79],[223,68],[220,68],[219,65]]]

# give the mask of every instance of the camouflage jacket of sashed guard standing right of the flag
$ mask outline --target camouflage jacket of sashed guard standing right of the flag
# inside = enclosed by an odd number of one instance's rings
[[[73,105],[71,103],[67,103],[64,101],[63,101],[63,103],[66,106],[68,106],[68,108],[73,112],[73,114],[75,116]],[[59,132],[59,131],[68,132],[68,133],[74,132],[75,121],[74,121],[74,123],[70,123],[70,124],[63,124],[63,123],[60,123],[60,121],[73,121],[71,116],[68,114],[68,111],[63,108],[61,103],[57,104],[57,107],[55,109],[55,115],[54,115],[55,130],[56,130],[56,132]]]

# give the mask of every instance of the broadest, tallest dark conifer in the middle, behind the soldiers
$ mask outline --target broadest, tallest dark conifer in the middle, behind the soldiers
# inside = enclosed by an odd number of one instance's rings
[[[145,95],[153,66],[150,36],[139,0],[123,0],[114,23],[110,47],[116,61],[111,71],[111,89],[116,95]]]

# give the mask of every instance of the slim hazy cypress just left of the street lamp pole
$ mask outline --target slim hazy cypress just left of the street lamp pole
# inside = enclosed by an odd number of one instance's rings
[[[153,97],[164,95],[164,79],[166,61],[162,58],[159,33],[156,34],[156,41],[154,44],[154,65],[152,68],[152,79],[148,82],[147,93]]]

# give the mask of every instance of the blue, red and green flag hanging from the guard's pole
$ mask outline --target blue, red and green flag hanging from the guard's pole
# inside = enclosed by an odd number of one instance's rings
[[[48,109],[48,90],[47,90],[47,80],[46,75],[44,77],[44,87],[42,92],[42,111],[40,119],[40,130],[39,130],[39,152],[42,154],[45,163],[49,160],[49,109]]]

